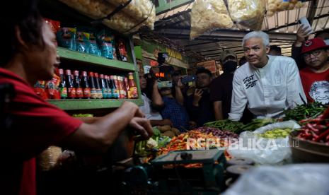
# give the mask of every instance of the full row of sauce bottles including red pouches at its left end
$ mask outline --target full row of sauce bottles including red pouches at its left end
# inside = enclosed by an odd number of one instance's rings
[[[58,69],[51,81],[38,81],[35,92],[44,99],[137,99],[133,73],[127,76]]]

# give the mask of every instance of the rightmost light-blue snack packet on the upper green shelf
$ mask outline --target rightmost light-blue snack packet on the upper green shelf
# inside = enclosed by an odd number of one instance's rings
[[[108,59],[114,59],[113,57],[113,48],[114,48],[114,37],[107,30],[100,30],[97,34],[97,40],[100,47],[100,52],[102,57]]]

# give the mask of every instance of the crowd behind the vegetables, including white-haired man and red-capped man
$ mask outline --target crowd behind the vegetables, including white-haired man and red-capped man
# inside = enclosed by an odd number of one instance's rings
[[[223,73],[217,78],[198,68],[190,88],[177,71],[172,73],[173,88],[157,88],[156,79],[149,80],[154,87],[151,91],[142,87],[143,97],[149,97],[144,103],[152,105],[150,99],[157,97],[161,104],[153,106],[155,112],[180,131],[220,119],[247,123],[253,118],[278,118],[284,110],[306,102],[328,104],[329,33],[318,32],[309,40],[307,34],[301,25],[293,56],[284,57],[265,32],[249,32],[243,37],[244,57],[239,61],[230,49],[221,52]]]

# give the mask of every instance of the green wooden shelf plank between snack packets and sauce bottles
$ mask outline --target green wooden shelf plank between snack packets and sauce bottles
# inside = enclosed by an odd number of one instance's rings
[[[97,57],[92,54],[84,54],[81,52],[71,51],[62,47],[57,47],[59,57],[64,59],[73,59],[76,61],[83,61],[97,66],[110,67],[112,69],[119,69],[123,71],[135,71],[134,64],[125,61],[106,59],[105,57]]]

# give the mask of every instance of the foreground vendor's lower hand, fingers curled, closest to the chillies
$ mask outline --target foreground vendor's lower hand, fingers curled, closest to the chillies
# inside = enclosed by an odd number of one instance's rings
[[[146,139],[153,135],[152,126],[149,119],[134,117],[129,122],[129,127],[135,129],[137,133],[141,134]]]

